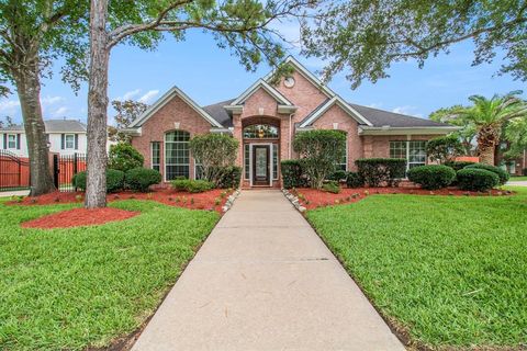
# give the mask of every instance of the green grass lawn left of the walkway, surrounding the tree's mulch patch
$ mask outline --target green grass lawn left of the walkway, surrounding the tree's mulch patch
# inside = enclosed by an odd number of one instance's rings
[[[134,331],[218,219],[123,201],[111,206],[142,214],[96,227],[22,229],[21,222],[76,205],[1,202],[0,350],[81,350]]]

